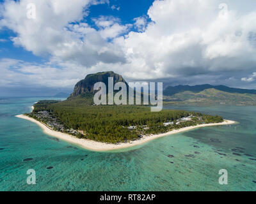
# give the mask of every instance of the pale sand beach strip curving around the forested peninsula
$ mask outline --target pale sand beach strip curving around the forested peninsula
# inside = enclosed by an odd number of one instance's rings
[[[67,133],[61,133],[61,132],[58,132],[58,131],[54,131],[54,130],[50,129],[49,127],[47,127],[42,122],[39,122],[38,120],[35,120],[35,119],[33,119],[31,117],[28,117],[26,115],[16,115],[15,117],[34,122],[35,124],[40,126],[40,128],[42,128],[44,133],[47,134],[47,135],[53,136],[53,137],[58,138],[60,140],[64,140],[65,142],[69,142],[69,143],[79,145],[79,147],[82,147],[84,149],[93,150],[93,151],[96,151],[96,152],[104,152],[104,151],[109,151],[109,150],[118,150],[118,149],[125,149],[125,148],[129,148],[129,147],[134,147],[136,145],[141,145],[143,143],[147,143],[151,140],[155,140],[155,139],[161,138],[163,136],[170,136],[170,135],[174,135],[174,134],[177,134],[177,133],[190,131],[190,130],[196,129],[196,128],[205,128],[205,127],[211,127],[211,126],[225,126],[225,125],[231,125],[231,124],[236,124],[237,123],[236,121],[233,121],[233,120],[224,120],[224,122],[220,122],[220,123],[211,123],[211,124],[201,124],[201,125],[197,125],[197,126],[189,126],[189,127],[186,127],[186,128],[175,129],[175,130],[170,131],[168,133],[143,136],[143,138],[141,138],[139,140],[129,142],[129,143],[111,144],[111,143],[95,142],[93,140],[88,140],[88,139],[79,139],[79,138],[76,138],[76,136],[68,135]]]

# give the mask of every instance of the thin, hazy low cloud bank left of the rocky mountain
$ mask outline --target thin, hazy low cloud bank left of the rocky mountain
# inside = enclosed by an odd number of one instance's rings
[[[58,64],[1,59],[0,87],[72,87],[81,78],[81,74],[85,74],[79,66],[74,70],[67,67],[68,64],[61,65],[63,68],[59,69]]]

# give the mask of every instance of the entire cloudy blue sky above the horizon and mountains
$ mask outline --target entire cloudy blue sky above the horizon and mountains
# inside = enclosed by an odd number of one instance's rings
[[[0,97],[72,92],[99,71],[256,89],[255,22],[255,0],[0,0]]]

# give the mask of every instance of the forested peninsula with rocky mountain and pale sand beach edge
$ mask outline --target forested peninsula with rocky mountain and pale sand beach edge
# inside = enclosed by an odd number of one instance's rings
[[[150,112],[150,107],[143,105],[96,106],[93,84],[107,83],[109,76],[114,82],[125,82],[113,72],[88,75],[67,100],[38,101],[31,113],[17,117],[35,122],[47,135],[95,151],[122,149],[195,128],[235,123],[218,115],[184,110]]]

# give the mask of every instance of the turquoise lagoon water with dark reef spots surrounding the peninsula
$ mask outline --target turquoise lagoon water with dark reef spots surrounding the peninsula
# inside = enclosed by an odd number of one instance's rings
[[[0,99],[0,191],[256,190],[253,106],[168,106],[218,114],[239,124],[195,129],[122,152],[91,152],[15,117],[30,112],[38,99]],[[244,149],[241,156],[233,154],[236,147]],[[26,183],[28,169],[36,171],[36,185]],[[221,169],[228,171],[228,185],[218,183]]]

